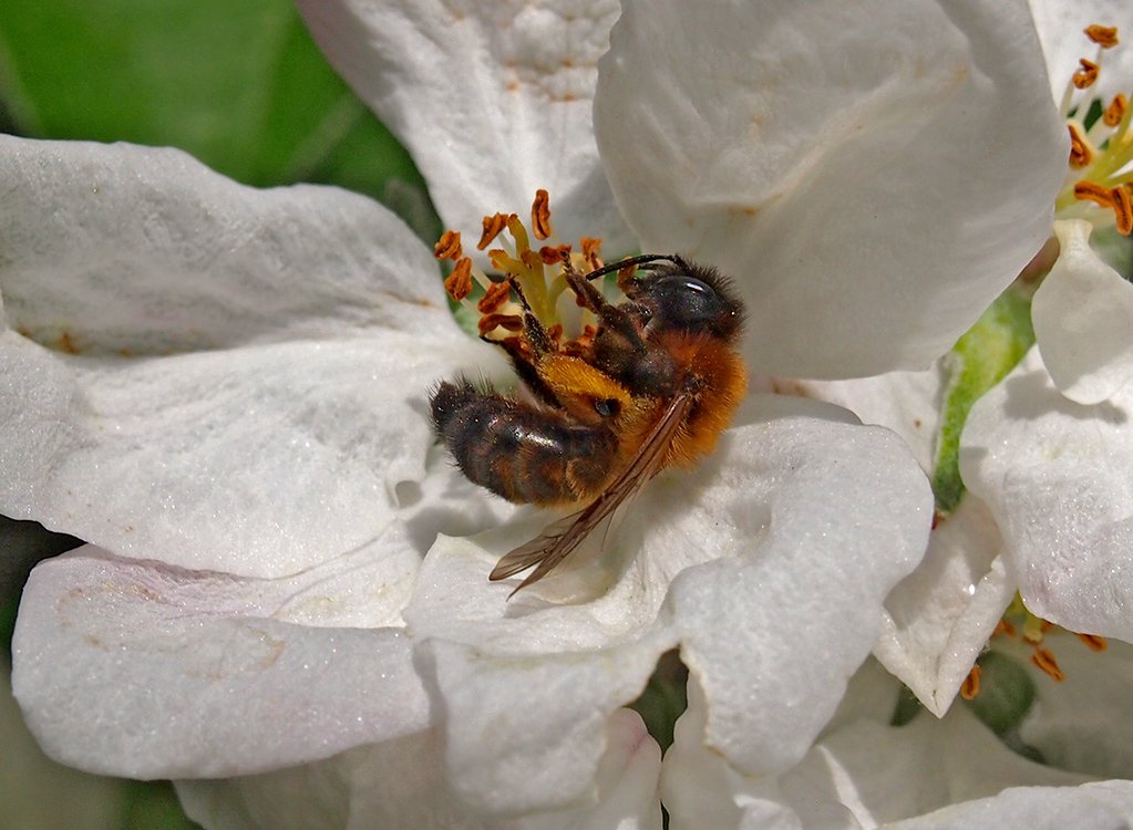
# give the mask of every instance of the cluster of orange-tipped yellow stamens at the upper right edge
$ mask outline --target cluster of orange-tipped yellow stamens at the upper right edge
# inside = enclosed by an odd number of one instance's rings
[[[1101,208],[1105,221],[1113,221],[1127,236],[1133,231],[1133,113],[1125,93],[1106,103],[1092,92],[1106,53],[1118,46],[1117,28],[1093,25],[1084,32],[1097,51],[1092,60],[1082,58],[1063,95],[1070,176],[1055,205],[1060,215],[1081,215],[1096,224]]]

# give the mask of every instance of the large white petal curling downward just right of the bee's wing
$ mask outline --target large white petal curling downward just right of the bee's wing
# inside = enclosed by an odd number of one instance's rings
[[[928,545],[932,495],[886,429],[799,417],[756,399],[693,524],[729,545],[681,573],[682,658],[708,701],[707,739],[738,768],[782,770],[833,715],[878,635],[881,602]],[[840,411],[816,401],[813,411]]]

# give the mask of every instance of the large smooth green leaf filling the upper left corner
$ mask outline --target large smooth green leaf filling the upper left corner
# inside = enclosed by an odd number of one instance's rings
[[[24,135],[177,146],[249,185],[423,186],[288,0],[6,0],[0,97]]]

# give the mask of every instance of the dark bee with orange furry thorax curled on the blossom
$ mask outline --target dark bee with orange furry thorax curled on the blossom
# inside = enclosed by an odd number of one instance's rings
[[[625,297],[619,303],[594,284],[612,272]],[[581,505],[500,559],[491,580],[534,568],[517,591],[551,573],[655,474],[710,453],[747,391],[736,350],[743,303],[715,268],[642,255],[582,274],[564,257],[564,276],[597,320],[568,343],[509,279],[521,323],[491,342],[526,395],[458,378],[431,396],[436,434],[472,482],[510,502]]]

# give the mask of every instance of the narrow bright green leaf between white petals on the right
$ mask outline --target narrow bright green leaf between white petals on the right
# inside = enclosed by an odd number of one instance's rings
[[[932,474],[936,507],[942,513],[954,511],[964,493],[960,478],[960,435],[972,404],[999,383],[1033,343],[1031,299],[1008,290],[952,348],[946,363],[949,377]]]

